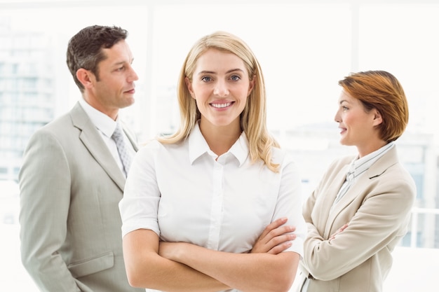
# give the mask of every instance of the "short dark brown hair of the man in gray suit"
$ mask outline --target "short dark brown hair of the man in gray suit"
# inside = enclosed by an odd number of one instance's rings
[[[76,78],[76,71],[81,68],[90,70],[99,80],[97,64],[107,58],[102,48],[112,48],[127,37],[128,32],[121,27],[92,25],[81,29],[70,39],[67,46],[67,67],[81,92],[84,86]]]

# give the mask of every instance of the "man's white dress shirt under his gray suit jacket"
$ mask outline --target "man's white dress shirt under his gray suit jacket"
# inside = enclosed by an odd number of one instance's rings
[[[112,134],[116,129],[116,123],[119,123],[119,120],[113,120],[102,111],[98,111],[93,106],[90,106],[83,98],[79,99],[79,104],[83,110],[87,113],[87,116],[92,121],[93,125],[97,128],[100,133],[102,139],[108,147],[108,150],[112,153],[114,160],[121,169],[121,172],[125,175],[125,170],[123,170],[123,164],[121,158],[119,157],[119,152],[117,152],[116,142],[112,139]],[[123,131],[122,131],[123,132]],[[128,137],[126,137],[125,132],[123,132],[123,139],[125,140],[126,145],[131,145]],[[129,151],[131,151],[131,156],[135,155],[135,150],[133,147],[128,147]]]

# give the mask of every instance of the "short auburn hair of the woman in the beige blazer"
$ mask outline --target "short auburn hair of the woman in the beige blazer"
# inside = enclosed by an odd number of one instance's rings
[[[387,143],[398,139],[407,126],[409,109],[403,86],[387,71],[362,71],[350,74],[339,85],[351,97],[358,99],[365,111],[377,109],[382,123],[380,138]]]

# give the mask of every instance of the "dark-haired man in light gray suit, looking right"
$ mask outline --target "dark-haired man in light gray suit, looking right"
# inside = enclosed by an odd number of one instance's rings
[[[82,97],[25,149],[21,257],[41,291],[144,291],[128,284],[123,264],[118,204],[129,166],[112,139],[138,79],[127,36],[120,27],[95,25],[70,39],[67,65]],[[129,158],[137,146],[123,130]]]

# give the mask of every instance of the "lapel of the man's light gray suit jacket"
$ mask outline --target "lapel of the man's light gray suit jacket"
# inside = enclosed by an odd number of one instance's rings
[[[70,111],[70,116],[72,116],[74,126],[81,130],[79,139],[81,139],[84,146],[90,151],[97,163],[102,166],[102,169],[107,172],[108,176],[123,191],[123,188],[125,187],[125,177],[117,166],[116,161],[114,161],[112,153],[110,153],[107,145],[105,145],[102,137],[100,137],[100,133],[97,131],[90,118],[88,118],[86,112],[83,111],[79,102],[76,103],[72,111]]]

